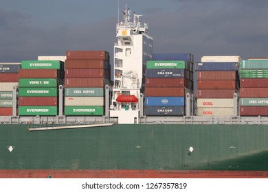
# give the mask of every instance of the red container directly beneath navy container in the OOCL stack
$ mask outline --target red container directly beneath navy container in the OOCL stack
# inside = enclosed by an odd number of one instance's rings
[[[197,71],[197,80],[236,80],[236,71]]]

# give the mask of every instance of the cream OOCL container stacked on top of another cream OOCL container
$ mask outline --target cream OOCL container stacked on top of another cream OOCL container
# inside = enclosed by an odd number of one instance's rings
[[[197,99],[198,108],[232,108],[234,99]]]

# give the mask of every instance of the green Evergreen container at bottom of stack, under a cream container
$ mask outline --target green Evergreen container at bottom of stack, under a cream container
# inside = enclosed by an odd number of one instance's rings
[[[65,115],[104,115],[103,106],[65,106]]]

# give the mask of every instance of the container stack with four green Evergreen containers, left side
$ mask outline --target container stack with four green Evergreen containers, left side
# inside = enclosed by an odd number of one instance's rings
[[[19,71],[19,115],[58,115],[58,86],[64,62],[23,60]]]

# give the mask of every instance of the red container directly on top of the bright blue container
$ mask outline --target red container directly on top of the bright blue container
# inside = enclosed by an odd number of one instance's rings
[[[147,97],[184,97],[184,88],[181,87],[168,87],[168,88],[155,88],[155,87],[146,87],[145,95]]]

